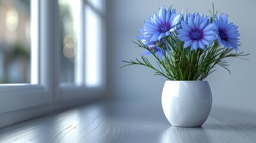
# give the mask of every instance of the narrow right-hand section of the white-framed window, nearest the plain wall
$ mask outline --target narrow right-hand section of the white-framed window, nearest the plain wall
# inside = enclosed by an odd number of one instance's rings
[[[61,27],[60,93],[85,96],[104,88],[104,3],[58,0]],[[79,94],[71,94],[73,90]],[[98,91],[98,90],[97,90]],[[90,92],[90,94],[95,93]],[[97,92],[96,92],[97,93]]]

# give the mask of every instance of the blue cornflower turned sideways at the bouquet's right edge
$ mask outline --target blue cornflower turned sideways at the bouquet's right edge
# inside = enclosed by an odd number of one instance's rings
[[[225,48],[234,48],[236,51],[238,50],[238,43],[240,34],[238,33],[238,26],[235,26],[233,23],[229,23],[227,21],[227,14],[222,16],[220,14],[220,18],[215,15],[214,24],[214,32],[217,34],[218,44],[223,44]]]

